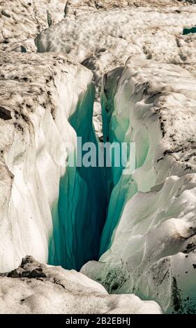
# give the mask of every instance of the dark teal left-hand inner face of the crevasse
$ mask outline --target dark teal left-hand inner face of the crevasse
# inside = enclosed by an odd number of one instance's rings
[[[82,137],[82,144],[93,142],[98,152],[92,123],[94,98],[95,87],[90,84],[69,121],[77,137]],[[59,199],[52,209],[49,264],[80,270],[89,260],[98,260],[107,199],[104,167],[67,167],[61,177]]]

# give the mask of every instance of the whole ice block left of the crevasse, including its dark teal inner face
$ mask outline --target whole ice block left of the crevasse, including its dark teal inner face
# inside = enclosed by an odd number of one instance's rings
[[[97,258],[103,224],[100,172],[66,167],[67,142],[95,139],[92,74],[62,54],[0,56],[0,271],[27,254],[47,262],[49,244],[50,262],[78,267]]]

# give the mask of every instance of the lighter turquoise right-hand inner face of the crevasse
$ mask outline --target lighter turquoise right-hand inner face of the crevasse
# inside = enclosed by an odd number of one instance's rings
[[[132,142],[133,129],[131,128],[130,120],[126,114],[119,111],[118,108],[125,107],[128,102],[128,94],[122,95],[121,103],[116,103],[115,95],[118,87],[119,78],[123,72],[123,68],[119,67],[107,73],[103,79],[103,87],[101,91],[101,105],[103,114],[103,135],[104,142]],[[125,80],[124,83],[128,83]],[[121,93],[119,89],[118,93]],[[124,103],[123,103],[124,102]],[[138,149],[140,151],[138,151]],[[141,167],[146,159],[149,151],[148,135],[137,136],[136,154],[127,154],[126,161],[136,160],[135,168]],[[119,223],[123,209],[130,198],[137,193],[137,183],[132,179],[130,174],[123,174],[124,167],[116,167],[112,163],[111,168],[107,169],[107,185],[110,195],[110,202],[107,211],[107,220],[100,240],[100,256],[105,253],[112,245],[115,228]]]

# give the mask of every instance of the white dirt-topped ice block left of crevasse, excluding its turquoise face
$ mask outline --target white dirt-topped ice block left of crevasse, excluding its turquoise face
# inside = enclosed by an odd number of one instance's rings
[[[68,123],[92,74],[62,54],[0,53],[0,271],[47,262],[51,209],[65,174]]]

